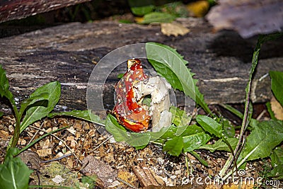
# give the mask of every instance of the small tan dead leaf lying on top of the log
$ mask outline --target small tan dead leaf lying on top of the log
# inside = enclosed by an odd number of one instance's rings
[[[182,24],[173,22],[173,23],[161,23],[161,32],[164,35],[170,36],[174,35],[185,35],[190,32],[189,29],[185,28]]]

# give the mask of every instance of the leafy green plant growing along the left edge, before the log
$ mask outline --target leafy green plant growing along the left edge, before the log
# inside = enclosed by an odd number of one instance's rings
[[[21,150],[16,148],[16,144],[18,143],[18,139],[23,130],[33,124],[33,122],[47,117],[47,115],[54,109],[54,106],[59,101],[61,95],[61,86],[58,81],[55,81],[37,88],[35,92],[30,95],[30,98],[25,99],[21,103],[21,107],[18,109],[13,99],[13,94],[9,91],[6,72],[0,65],[0,94],[1,98],[6,97],[11,103],[16,118],[14,134],[7,147],[4,164],[0,165],[0,188],[28,188],[29,176],[33,171],[31,171],[23,161],[16,156],[40,139],[54,132],[58,132],[59,130],[63,130],[66,127],[42,135],[42,137],[35,139]],[[76,115],[76,113],[73,114]],[[82,114],[83,113],[80,114],[81,117]],[[1,115],[3,115],[3,113],[1,113]]]

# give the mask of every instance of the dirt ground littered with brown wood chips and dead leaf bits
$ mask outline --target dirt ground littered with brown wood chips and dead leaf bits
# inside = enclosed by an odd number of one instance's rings
[[[260,115],[260,119],[267,119],[264,106],[256,107],[258,111],[255,116]],[[221,111],[219,107],[212,108]],[[228,116],[234,119],[232,122],[235,125],[238,124],[239,120],[232,115]],[[0,120],[1,162],[13,134],[13,125],[15,120],[12,115],[4,116]],[[30,176],[30,185],[86,187],[83,184],[83,173],[88,176],[93,173],[98,178],[95,179],[98,182],[96,188],[216,188],[206,183],[214,181],[213,178],[229,157],[223,151],[210,153],[197,150],[197,154],[208,163],[208,166],[204,166],[191,154],[171,156],[157,144],[149,144],[144,149],[137,150],[101,135],[93,123],[73,118],[46,118],[35,122],[21,134],[18,147],[21,149],[42,134],[66,126],[67,129],[45,137],[21,154],[23,161],[35,170]],[[266,167],[270,167],[269,161],[267,159],[249,163],[245,176],[262,176]],[[253,185],[245,187],[253,188]]]

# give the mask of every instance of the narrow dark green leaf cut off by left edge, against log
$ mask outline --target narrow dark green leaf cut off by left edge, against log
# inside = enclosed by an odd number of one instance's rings
[[[4,96],[8,98],[10,101],[11,105],[13,105],[13,110],[17,110],[16,108],[16,103],[13,100],[13,94],[11,91],[9,91],[9,84],[8,84],[8,79],[6,77],[6,71],[3,69],[2,65],[0,64],[0,95],[1,98]],[[18,112],[16,112],[17,114]]]

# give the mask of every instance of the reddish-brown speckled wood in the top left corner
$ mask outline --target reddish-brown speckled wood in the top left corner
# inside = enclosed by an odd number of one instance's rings
[[[91,0],[12,0],[0,2],[0,23],[5,21],[12,21],[28,16],[33,16],[37,13],[45,13],[47,11],[56,10],[74,4],[80,4]]]

